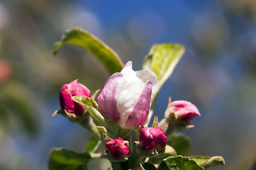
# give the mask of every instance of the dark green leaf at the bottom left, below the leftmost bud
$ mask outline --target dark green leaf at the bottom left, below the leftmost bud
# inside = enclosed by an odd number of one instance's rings
[[[49,170],[87,169],[86,164],[92,159],[89,152],[76,153],[67,149],[52,149],[48,162]]]

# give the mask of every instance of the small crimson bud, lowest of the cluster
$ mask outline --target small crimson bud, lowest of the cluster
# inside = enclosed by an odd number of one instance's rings
[[[106,147],[112,159],[124,159],[128,157],[129,147],[128,142],[122,140],[121,137],[117,137],[116,140],[106,142]]]

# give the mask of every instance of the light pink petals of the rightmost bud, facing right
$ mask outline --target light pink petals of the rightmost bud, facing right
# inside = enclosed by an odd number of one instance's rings
[[[176,114],[177,121],[182,123],[188,123],[193,118],[201,116],[198,108],[189,101],[173,101],[171,109]]]

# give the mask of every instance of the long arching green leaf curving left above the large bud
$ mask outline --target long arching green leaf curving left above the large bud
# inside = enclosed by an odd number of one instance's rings
[[[124,67],[124,64],[114,50],[95,37],[95,35],[80,28],[67,30],[61,40],[55,42],[53,54],[66,44],[83,47],[85,50],[91,52],[92,55],[95,55],[95,57],[102,62],[110,74],[120,72]]]

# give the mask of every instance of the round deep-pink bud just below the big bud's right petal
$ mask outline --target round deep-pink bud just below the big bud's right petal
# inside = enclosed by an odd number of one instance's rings
[[[147,152],[153,152],[156,149],[157,152],[166,147],[167,138],[163,130],[159,127],[142,128],[140,133],[139,145]]]

